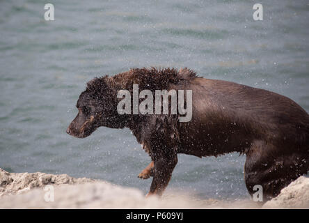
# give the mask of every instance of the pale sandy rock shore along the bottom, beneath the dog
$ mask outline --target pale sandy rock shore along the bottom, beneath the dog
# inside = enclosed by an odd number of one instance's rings
[[[145,198],[140,190],[102,180],[0,169],[0,208],[309,208],[309,178],[301,176],[262,206],[249,199],[200,200],[177,192]]]

